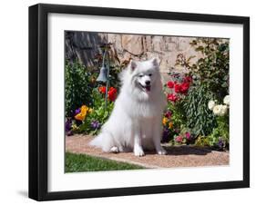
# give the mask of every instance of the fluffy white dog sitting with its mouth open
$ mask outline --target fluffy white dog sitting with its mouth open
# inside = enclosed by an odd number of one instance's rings
[[[157,59],[131,61],[120,73],[122,87],[115,107],[99,135],[90,145],[102,151],[133,150],[143,156],[143,149],[155,148],[158,154],[167,152],[161,147],[161,118],[166,98]]]

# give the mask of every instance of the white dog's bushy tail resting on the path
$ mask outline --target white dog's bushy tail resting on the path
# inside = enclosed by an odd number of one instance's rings
[[[95,139],[89,142],[89,145],[100,148],[102,151],[108,152],[113,147],[113,140],[109,133],[104,132],[98,134]]]

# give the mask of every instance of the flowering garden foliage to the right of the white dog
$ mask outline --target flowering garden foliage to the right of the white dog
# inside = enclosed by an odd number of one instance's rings
[[[183,78],[190,78],[190,82],[188,91],[182,97],[179,89],[167,91],[168,112],[172,112],[173,116],[172,130],[179,132],[173,135],[173,132],[164,130],[164,136],[169,132],[169,137],[165,136],[168,140],[165,141],[188,143],[186,134],[184,135],[187,131],[191,143],[218,149],[228,148],[229,106],[225,103],[216,104],[215,108],[210,109],[209,102],[222,102],[229,94],[229,42],[215,38],[198,38],[191,42],[191,46],[202,57],[196,63],[190,63],[194,56],[189,56],[188,59],[184,54],[177,56],[176,65],[183,67]],[[172,81],[167,83],[167,87],[176,88],[179,85],[177,75],[180,73],[170,73]],[[223,116],[218,116],[214,112],[216,110],[221,110]]]

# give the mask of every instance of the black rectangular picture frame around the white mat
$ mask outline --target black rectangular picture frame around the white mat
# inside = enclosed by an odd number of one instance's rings
[[[243,180],[156,185],[101,190],[47,190],[47,15],[74,14],[242,24],[243,26]],[[250,18],[230,15],[199,15],[76,5],[29,7],[29,198],[67,200],[191,190],[250,187]]]

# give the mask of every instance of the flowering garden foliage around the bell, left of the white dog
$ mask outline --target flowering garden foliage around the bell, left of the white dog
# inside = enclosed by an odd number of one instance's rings
[[[104,47],[103,49],[107,49]],[[118,93],[118,73],[120,66],[114,66],[109,59],[110,75],[108,99],[105,101],[106,84],[97,82],[102,55],[96,54],[96,67],[87,68],[78,61],[66,62],[66,132],[96,134],[107,121]],[[107,59],[108,60],[108,59]],[[106,66],[106,65],[105,65]],[[115,86],[115,87],[114,87]]]

